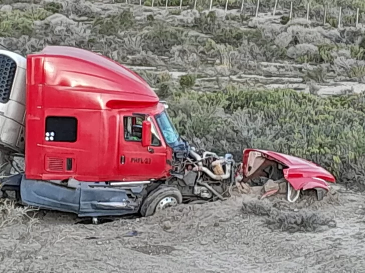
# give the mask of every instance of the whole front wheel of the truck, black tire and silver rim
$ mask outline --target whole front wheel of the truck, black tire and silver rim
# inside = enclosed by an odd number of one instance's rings
[[[140,213],[148,217],[153,213],[182,202],[181,192],[172,186],[159,186],[143,200]]]

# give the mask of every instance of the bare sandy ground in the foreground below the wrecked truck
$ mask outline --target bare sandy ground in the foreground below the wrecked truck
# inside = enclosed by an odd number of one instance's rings
[[[311,198],[289,205],[236,196],[100,225],[75,224],[59,212],[22,219],[22,208],[3,210],[0,271],[363,272],[363,196],[340,190],[321,202]]]

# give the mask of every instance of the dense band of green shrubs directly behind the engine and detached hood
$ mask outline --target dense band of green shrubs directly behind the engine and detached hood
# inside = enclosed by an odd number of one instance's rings
[[[319,97],[294,90],[175,92],[180,133],[219,153],[256,147],[312,160],[338,182],[365,189],[365,94]]]

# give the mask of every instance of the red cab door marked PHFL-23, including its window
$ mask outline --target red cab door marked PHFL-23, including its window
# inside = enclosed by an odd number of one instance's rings
[[[153,120],[150,149],[142,147],[142,115],[120,115],[119,175],[125,180],[161,177],[166,167],[166,148],[159,139]]]

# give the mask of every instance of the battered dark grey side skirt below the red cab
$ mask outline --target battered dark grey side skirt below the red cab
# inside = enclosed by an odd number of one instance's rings
[[[128,188],[141,193],[143,186]],[[107,186],[104,182],[80,182],[70,179],[67,185],[43,180],[22,178],[20,185],[22,203],[51,210],[73,212],[78,216],[116,216],[135,213],[137,202],[129,199],[126,189]]]

